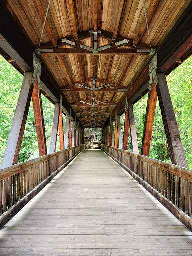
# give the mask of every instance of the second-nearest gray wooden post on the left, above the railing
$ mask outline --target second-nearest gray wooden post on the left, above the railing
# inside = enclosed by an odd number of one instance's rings
[[[60,110],[60,103],[55,103],[49,154],[54,153],[56,150],[59,110]]]

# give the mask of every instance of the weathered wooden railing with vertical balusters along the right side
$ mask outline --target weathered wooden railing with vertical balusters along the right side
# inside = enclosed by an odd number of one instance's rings
[[[192,170],[112,146],[101,149],[192,231]]]

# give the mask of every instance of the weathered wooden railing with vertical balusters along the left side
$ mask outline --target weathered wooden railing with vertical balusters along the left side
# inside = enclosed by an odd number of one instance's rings
[[[0,170],[0,228],[83,149],[70,147]]]

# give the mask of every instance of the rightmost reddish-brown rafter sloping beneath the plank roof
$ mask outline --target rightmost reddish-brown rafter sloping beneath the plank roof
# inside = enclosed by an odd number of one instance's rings
[[[160,0],[152,0],[151,3],[150,3],[150,6],[149,6],[148,11],[147,11],[147,13],[146,13],[146,17],[147,17],[147,22],[148,22],[148,24],[149,24],[149,22],[150,22],[150,20],[151,20],[151,18],[152,18],[152,16],[153,16],[155,10],[156,10],[156,7],[157,7],[159,1],[160,1]],[[141,27],[140,27],[140,29],[139,29],[137,35],[136,35],[135,41],[133,42],[133,45],[134,45],[135,47],[138,45],[139,40],[142,38],[142,36],[143,36],[143,34],[144,34],[146,28],[147,28],[146,19],[145,19],[145,15],[144,15],[144,13],[143,13],[143,22],[142,22],[142,25],[141,25]]]

